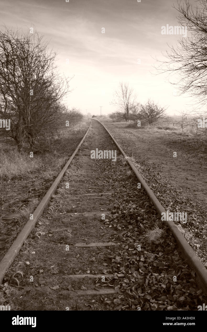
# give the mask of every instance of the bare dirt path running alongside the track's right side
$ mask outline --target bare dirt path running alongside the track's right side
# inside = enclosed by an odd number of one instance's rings
[[[99,119],[101,120],[101,119]],[[126,128],[126,124],[103,122],[129,154],[136,153],[152,167],[159,166],[174,188],[182,188],[193,202],[207,205],[207,150],[199,139],[182,137],[176,131],[148,128]],[[124,126],[125,125],[125,126]],[[177,157],[173,158],[173,152]]]

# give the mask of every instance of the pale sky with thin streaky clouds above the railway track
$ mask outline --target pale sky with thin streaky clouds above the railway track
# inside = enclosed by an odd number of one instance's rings
[[[193,1],[193,0],[192,0]],[[119,81],[129,82],[137,101],[148,98],[168,113],[189,110],[192,99],[174,96],[166,74],[154,76],[155,56],[175,45],[179,35],[161,35],[161,26],[178,25],[171,0],[1,0],[0,22],[23,28],[32,24],[58,52],[57,64],[73,76],[67,104],[91,114],[108,114]],[[102,33],[105,28],[105,33]],[[66,59],[69,64],[66,64]],[[138,64],[139,60],[141,61]]]

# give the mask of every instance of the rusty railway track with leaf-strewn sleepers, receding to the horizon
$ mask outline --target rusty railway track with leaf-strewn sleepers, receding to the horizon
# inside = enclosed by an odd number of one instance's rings
[[[197,310],[206,269],[129,158],[95,120],[78,148],[0,263],[11,310]]]

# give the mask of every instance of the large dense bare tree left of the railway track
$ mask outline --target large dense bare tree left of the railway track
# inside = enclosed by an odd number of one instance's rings
[[[34,29],[35,30],[35,29]],[[56,71],[56,53],[36,31],[0,32],[0,117],[11,120],[7,134],[22,150],[58,117],[69,79]]]

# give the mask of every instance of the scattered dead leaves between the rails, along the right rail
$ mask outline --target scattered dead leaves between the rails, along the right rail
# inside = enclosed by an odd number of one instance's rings
[[[164,223],[160,224],[145,192],[122,180],[120,172],[119,199],[116,192],[109,220],[109,226],[119,230],[111,240],[121,243],[122,249],[105,258],[103,270],[125,275],[114,285],[107,282],[118,290],[113,299],[115,310],[197,310],[207,298],[197,287],[194,272],[180,257],[172,234]],[[153,240],[147,231],[155,223],[162,232],[161,238]]]

